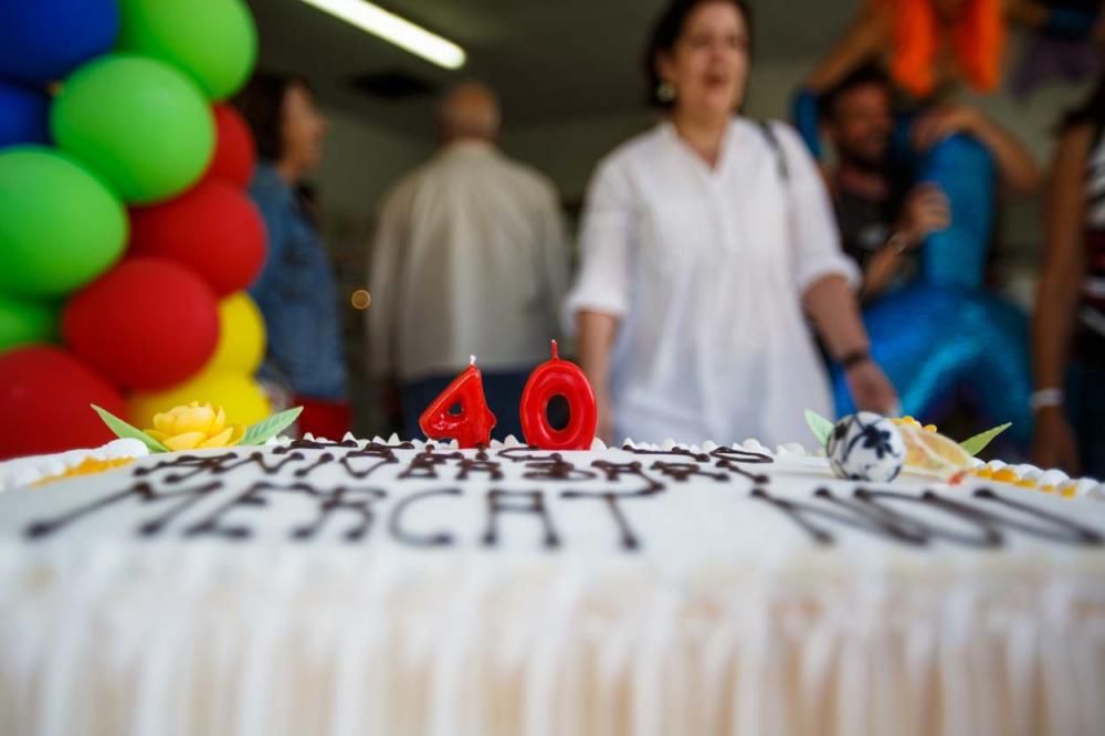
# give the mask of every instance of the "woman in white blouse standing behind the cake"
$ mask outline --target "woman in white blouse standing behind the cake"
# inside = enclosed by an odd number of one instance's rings
[[[735,116],[749,40],[740,0],[673,2],[646,63],[667,119],[590,185],[566,308],[608,440],[801,440],[804,409],[832,414],[804,315],[861,408],[897,402],[806,148],[782,124]]]

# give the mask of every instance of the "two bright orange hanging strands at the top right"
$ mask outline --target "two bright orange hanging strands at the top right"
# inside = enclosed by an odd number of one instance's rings
[[[877,10],[890,10],[894,41],[891,73],[916,97],[926,97],[936,87],[940,29],[933,1],[872,0]],[[951,33],[951,50],[967,81],[979,92],[993,91],[1001,77],[1006,41],[1001,0],[970,0]]]

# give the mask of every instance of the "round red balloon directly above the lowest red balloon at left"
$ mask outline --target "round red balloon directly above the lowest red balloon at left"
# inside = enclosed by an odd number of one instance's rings
[[[65,306],[73,353],[117,386],[175,386],[203,367],[219,339],[214,292],[165,259],[126,259]]]

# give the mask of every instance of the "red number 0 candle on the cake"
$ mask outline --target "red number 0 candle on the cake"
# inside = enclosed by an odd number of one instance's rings
[[[556,429],[549,423],[549,401],[562,396],[568,401],[568,425]],[[526,442],[541,450],[590,450],[594,441],[598,411],[594,392],[587,376],[573,362],[561,360],[552,340],[552,359],[534,369],[522,393],[522,431]]]

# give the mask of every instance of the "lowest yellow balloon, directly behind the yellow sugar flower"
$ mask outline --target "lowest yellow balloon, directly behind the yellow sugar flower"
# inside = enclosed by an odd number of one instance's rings
[[[252,377],[217,372],[200,374],[166,391],[131,395],[130,419],[139,429],[147,429],[154,425],[154,414],[191,401],[222,407],[228,424],[249,427],[272,413],[264,389]]]

